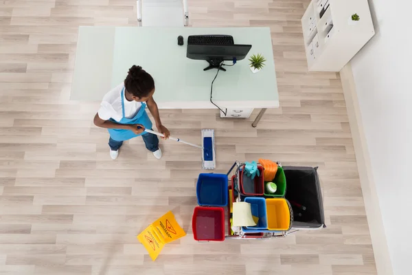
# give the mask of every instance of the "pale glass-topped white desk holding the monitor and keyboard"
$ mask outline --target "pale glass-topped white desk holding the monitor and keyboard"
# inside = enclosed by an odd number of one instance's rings
[[[154,98],[160,109],[215,109],[209,102],[216,69],[203,71],[206,61],[186,58],[187,36],[229,34],[236,44],[251,44],[266,66],[253,74],[245,58],[214,82],[214,102],[223,108],[277,108],[279,99],[269,28],[139,28],[80,27],[71,100],[102,100],[104,94],[141,65],[155,78]],[[177,45],[177,36],[185,44]],[[227,62],[230,64],[231,62]]]

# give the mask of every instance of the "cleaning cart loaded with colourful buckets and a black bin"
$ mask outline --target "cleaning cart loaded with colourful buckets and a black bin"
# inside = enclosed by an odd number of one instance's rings
[[[264,160],[260,159],[260,162]],[[258,170],[260,173],[253,180],[244,176],[245,163],[241,162],[235,162],[227,175],[201,174],[197,187],[198,199],[206,195],[218,198],[218,203],[201,203],[204,199],[213,201],[201,198],[192,221],[194,239],[223,241],[280,238],[298,230],[319,230],[325,227],[317,167],[282,166],[279,162],[268,161],[258,163]],[[217,175],[218,183],[211,179]],[[273,178],[277,186],[275,192],[268,192],[265,188],[265,177]],[[208,182],[213,182],[216,187],[211,187]],[[253,218],[258,219],[256,225],[232,226],[233,202],[250,203]],[[201,217],[198,216],[199,210],[203,211]],[[199,231],[205,237],[199,237]],[[225,234],[225,238],[222,238],[222,234]]]

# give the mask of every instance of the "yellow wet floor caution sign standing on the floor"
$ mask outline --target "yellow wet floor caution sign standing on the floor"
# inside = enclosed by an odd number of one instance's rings
[[[185,231],[174,218],[172,211],[169,211],[143,230],[137,236],[137,239],[148,250],[150,258],[155,261],[166,243],[175,241],[185,236],[185,234]]]

